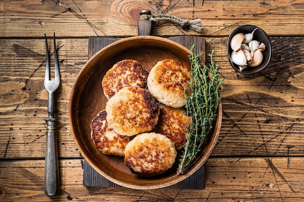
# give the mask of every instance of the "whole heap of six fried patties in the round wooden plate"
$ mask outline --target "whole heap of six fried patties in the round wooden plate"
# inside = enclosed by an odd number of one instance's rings
[[[171,59],[158,62],[150,73],[135,60],[115,64],[102,80],[108,101],[91,123],[94,144],[104,154],[124,156],[139,176],[164,173],[191,123],[183,108],[190,79],[189,69]]]

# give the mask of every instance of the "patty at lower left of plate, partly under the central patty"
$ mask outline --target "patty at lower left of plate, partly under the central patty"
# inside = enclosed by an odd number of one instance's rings
[[[107,113],[102,110],[91,122],[91,138],[104,154],[124,156],[124,150],[131,137],[122,136],[108,125]]]

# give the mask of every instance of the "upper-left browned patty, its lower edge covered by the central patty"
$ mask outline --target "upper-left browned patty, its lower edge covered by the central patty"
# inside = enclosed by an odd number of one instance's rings
[[[103,93],[110,99],[125,86],[147,89],[149,72],[135,60],[122,60],[107,71],[102,79]]]

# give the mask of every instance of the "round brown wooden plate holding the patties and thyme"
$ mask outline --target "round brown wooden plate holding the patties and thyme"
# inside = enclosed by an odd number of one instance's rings
[[[97,52],[80,71],[71,91],[69,124],[74,141],[84,159],[102,176],[125,187],[156,189],[174,185],[198,170],[213,150],[220,133],[221,104],[213,131],[208,135],[205,149],[192,167],[181,176],[176,175],[178,159],[165,174],[141,178],[124,165],[123,157],[105,155],[93,144],[90,137],[91,120],[105,109],[101,81],[106,71],[123,59],[134,59],[150,70],[158,61],[171,58],[190,66],[190,51],[178,43],[156,36],[135,36],[121,39]],[[179,152],[180,154],[180,152]]]

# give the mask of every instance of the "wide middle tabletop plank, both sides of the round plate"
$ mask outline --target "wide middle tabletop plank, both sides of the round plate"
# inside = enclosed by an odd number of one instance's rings
[[[68,101],[87,61],[88,39],[56,42],[62,82],[55,94],[58,154],[74,158],[80,152],[68,125]],[[206,38],[206,53],[215,50],[214,61],[226,79],[220,92],[222,127],[211,155],[303,156],[304,38],[271,37],[270,65],[254,75],[234,72],[226,42],[226,37]],[[0,39],[0,54],[0,158],[44,158],[44,39]]]

